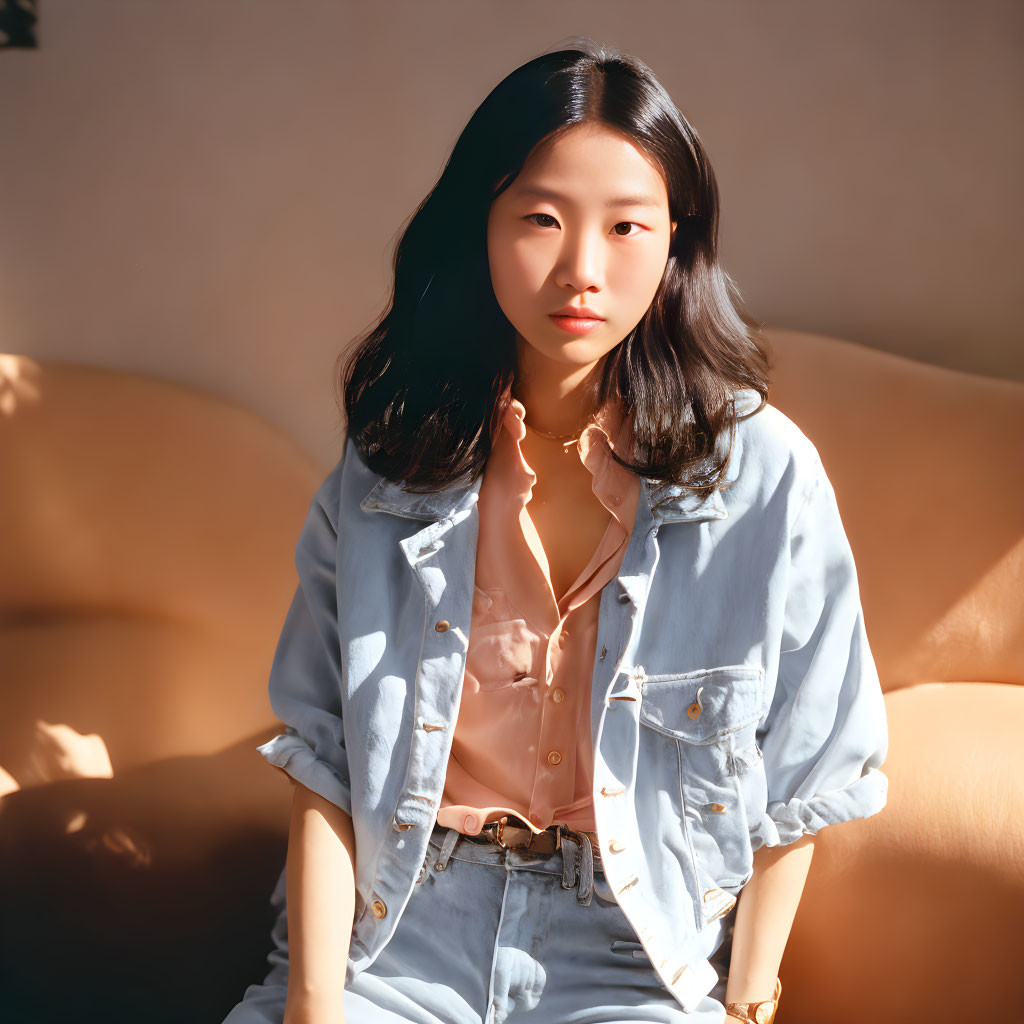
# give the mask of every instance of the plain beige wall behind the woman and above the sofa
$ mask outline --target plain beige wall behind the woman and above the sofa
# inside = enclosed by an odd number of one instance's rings
[[[486,91],[585,33],[708,144],[755,316],[1024,380],[1015,0],[40,6],[0,51],[0,351],[207,388],[333,463],[396,230]]]

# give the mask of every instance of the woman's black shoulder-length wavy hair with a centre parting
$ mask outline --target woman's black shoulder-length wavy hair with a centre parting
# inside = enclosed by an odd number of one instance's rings
[[[482,471],[516,375],[515,329],[490,284],[490,204],[538,143],[587,122],[660,169],[678,222],[650,307],[590,385],[633,414],[634,451],[616,461],[700,496],[721,485],[732,393],[754,388],[763,408],[770,349],[719,266],[718,185],[696,132],[645,63],[586,47],[544,53],[494,88],[398,240],[388,306],[335,378],[374,472],[424,493]]]

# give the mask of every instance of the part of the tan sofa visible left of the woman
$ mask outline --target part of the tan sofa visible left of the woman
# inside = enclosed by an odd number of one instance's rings
[[[324,474],[216,396],[14,356],[0,474],[0,1021],[219,1024],[269,942],[255,745]]]

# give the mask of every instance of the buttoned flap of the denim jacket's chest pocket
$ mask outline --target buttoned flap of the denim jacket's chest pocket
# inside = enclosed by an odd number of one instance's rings
[[[679,675],[647,676],[641,693],[640,721],[644,725],[690,743],[711,743],[761,717],[764,669],[760,665],[724,665]]]

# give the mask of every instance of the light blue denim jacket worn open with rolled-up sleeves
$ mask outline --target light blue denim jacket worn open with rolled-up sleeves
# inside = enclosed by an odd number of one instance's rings
[[[753,390],[737,411],[757,408]],[[726,438],[727,442],[727,438]],[[270,672],[266,760],[348,812],[351,980],[393,933],[427,853],[462,693],[481,478],[414,495],[351,440],[313,498]],[[762,845],[886,803],[885,705],[818,453],[772,406],[737,423],[728,486],[644,479],[600,594],[592,679],[605,877],[687,1012]]]

